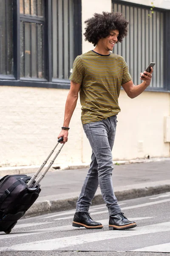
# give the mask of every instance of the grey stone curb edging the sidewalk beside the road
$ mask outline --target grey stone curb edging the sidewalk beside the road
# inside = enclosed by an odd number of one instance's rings
[[[170,192],[170,185],[159,185],[150,187],[141,187],[138,189],[125,189],[122,191],[115,191],[115,195],[118,201],[124,201],[128,199],[140,198],[150,195],[157,195],[165,192]],[[52,212],[67,211],[76,208],[76,202],[78,197],[35,202],[30,209],[26,212],[23,218],[34,217],[38,215],[48,214]],[[104,204],[102,195],[96,194],[92,205]]]

